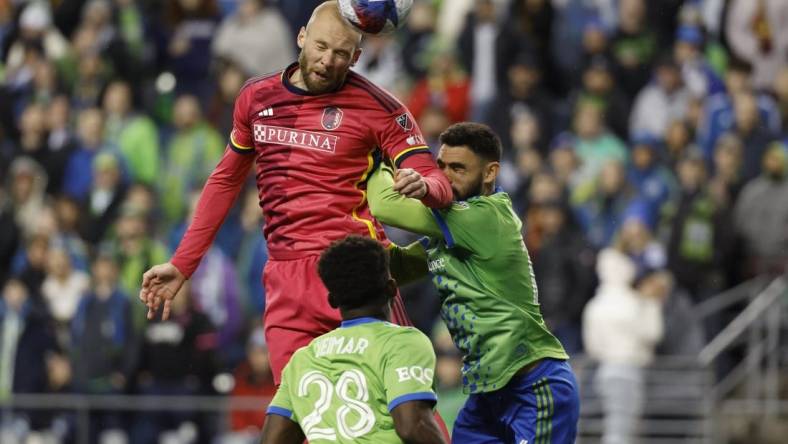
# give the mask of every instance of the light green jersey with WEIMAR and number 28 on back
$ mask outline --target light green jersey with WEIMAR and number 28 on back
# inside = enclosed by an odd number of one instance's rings
[[[391,410],[437,401],[435,353],[413,327],[375,318],[342,322],[293,354],[269,414],[297,422],[311,442],[401,443]]]

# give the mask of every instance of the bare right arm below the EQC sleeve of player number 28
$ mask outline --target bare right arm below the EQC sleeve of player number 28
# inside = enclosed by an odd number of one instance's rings
[[[432,411],[432,402],[409,401],[403,402],[391,411],[394,419],[394,429],[402,441],[408,444],[444,444],[435,413]]]

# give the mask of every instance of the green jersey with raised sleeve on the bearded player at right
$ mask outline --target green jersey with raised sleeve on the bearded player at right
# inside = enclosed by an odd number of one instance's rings
[[[428,267],[441,316],[463,353],[466,393],[500,389],[536,360],[569,358],[542,318],[522,222],[506,193],[438,211],[400,196],[392,184],[385,169],[372,176],[370,208],[385,224],[430,236]]]

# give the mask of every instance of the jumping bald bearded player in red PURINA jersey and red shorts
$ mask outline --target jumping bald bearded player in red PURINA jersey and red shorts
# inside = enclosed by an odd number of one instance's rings
[[[315,9],[297,42],[297,63],[241,89],[228,149],[194,219],[171,261],[143,275],[140,291],[149,318],[162,303],[162,316],[169,315],[170,300],[197,268],[254,166],[270,253],[264,322],[277,384],[295,350],[340,323],[317,275],[322,250],[348,234],[388,244],[367,207],[373,154],[419,173],[398,178],[395,189],[403,195],[433,208],[452,200],[410,112],[350,71],[361,34],[343,21],[336,2]],[[409,323],[399,296],[392,314],[394,322]]]

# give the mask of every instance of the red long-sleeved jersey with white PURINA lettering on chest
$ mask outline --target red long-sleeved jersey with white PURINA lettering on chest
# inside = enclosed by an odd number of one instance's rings
[[[399,101],[352,71],[337,91],[313,95],[290,83],[295,69],[298,64],[252,79],[239,93],[232,151],[225,152],[209,178],[195,220],[173,258],[186,276],[213,241],[231,204],[225,201],[237,195],[252,163],[274,259],[320,253],[348,234],[386,241],[365,192],[378,150],[425,177],[425,204],[451,202],[448,181]]]

